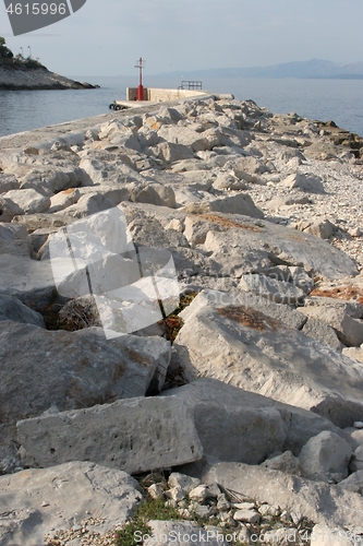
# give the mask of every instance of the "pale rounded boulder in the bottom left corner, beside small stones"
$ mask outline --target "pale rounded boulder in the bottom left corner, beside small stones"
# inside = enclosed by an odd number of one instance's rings
[[[125,472],[89,462],[0,476],[0,502],[7,508],[0,521],[0,543],[44,544],[47,533],[80,525],[90,514],[106,517],[95,527],[106,533],[123,525],[141,498],[137,482]]]

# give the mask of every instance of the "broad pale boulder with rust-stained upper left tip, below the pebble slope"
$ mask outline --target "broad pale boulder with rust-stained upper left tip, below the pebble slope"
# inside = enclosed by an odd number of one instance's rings
[[[265,273],[275,264],[303,266],[327,278],[355,275],[350,259],[323,239],[293,232],[269,222],[252,221],[249,216],[206,213],[198,215],[208,229],[204,248],[220,262],[221,273],[241,276],[244,273]],[[226,257],[228,256],[228,260]]]

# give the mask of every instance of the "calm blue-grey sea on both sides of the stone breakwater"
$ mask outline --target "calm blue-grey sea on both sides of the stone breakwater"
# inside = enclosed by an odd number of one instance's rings
[[[125,87],[137,78],[73,76],[99,84],[85,91],[0,91],[0,136],[28,131],[109,111],[114,98],[125,98]],[[150,87],[177,88],[179,78],[144,76]],[[327,121],[363,136],[363,80],[239,80],[205,79],[203,88],[252,98],[273,112],[298,112]]]

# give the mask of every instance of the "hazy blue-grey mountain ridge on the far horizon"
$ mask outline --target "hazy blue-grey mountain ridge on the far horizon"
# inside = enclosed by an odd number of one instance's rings
[[[209,70],[178,71],[173,75],[184,79],[204,78],[298,78],[298,79],[339,79],[362,80],[363,62],[348,64],[311,59],[308,61],[292,61],[268,67],[220,68]],[[167,74],[159,74],[167,75]],[[168,75],[171,75],[168,73]]]

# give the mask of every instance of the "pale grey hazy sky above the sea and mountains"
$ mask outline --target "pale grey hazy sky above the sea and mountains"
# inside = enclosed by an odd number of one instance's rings
[[[49,0],[50,1],[50,0]],[[87,0],[71,16],[0,36],[62,75],[145,74],[306,61],[363,61],[362,0]]]

